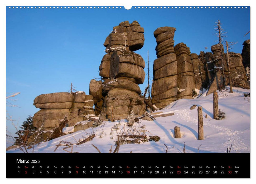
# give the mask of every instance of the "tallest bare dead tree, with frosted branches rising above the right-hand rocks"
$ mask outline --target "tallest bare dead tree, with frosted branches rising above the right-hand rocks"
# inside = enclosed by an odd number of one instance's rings
[[[223,49],[222,49],[222,45],[223,45],[223,37],[226,37],[224,36],[223,34],[225,34],[226,32],[223,32],[224,29],[221,28],[221,23],[220,23],[220,20],[218,20],[218,22],[215,22],[217,25],[214,25],[216,26],[215,28],[215,31],[218,31],[218,33],[215,33],[217,35],[217,37],[219,38],[218,40],[218,44],[219,44],[219,47],[220,47],[220,60],[221,60],[221,70],[222,70],[222,75],[223,75],[223,88],[225,88],[225,84],[226,84],[226,78],[225,78],[225,73],[224,73],[224,62],[223,62]]]

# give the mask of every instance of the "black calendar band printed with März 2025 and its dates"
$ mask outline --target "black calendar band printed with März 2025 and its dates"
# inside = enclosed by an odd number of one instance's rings
[[[250,154],[6,154],[7,178],[249,178]]]

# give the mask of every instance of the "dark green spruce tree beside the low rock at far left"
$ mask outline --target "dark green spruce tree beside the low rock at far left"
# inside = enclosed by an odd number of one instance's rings
[[[29,115],[27,117],[27,120],[23,121],[22,126],[20,126],[20,129],[21,130],[18,130],[18,132],[15,133],[18,136],[14,137],[15,139],[14,145],[23,145],[22,141],[24,141],[24,145],[26,145],[28,141],[28,137],[35,132],[36,127],[33,126],[32,116]]]

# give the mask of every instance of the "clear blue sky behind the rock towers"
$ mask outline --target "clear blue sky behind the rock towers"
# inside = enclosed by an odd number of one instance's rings
[[[214,22],[220,19],[228,32],[225,39],[238,42],[232,52],[241,53],[250,30],[249,7],[236,9],[9,9],[6,7],[6,93],[20,92],[6,107],[7,113],[21,124],[38,110],[33,106],[36,96],[67,92],[70,83],[89,94],[91,79],[99,77],[99,65],[104,56],[103,43],[112,28],[122,21],[137,20],[144,28],[145,42],[136,51],[147,60],[150,70],[156,59],[158,27],[175,27],[175,44],[183,42],[191,53],[199,54],[204,47],[216,44]],[[145,68],[146,71],[146,68]],[[153,74],[151,73],[151,76]],[[140,85],[143,91],[145,84]],[[7,94],[8,96],[9,94]],[[15,132],[7,121],[8,130]]]

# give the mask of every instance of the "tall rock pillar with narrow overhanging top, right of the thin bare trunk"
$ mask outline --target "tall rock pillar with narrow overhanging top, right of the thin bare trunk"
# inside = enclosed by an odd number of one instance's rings
[[[174,52],[176,28],[160,27],[154,31],[156,55],[153,65],[152,103],[158,108],[177,100],[177,60]]]

